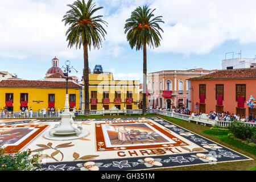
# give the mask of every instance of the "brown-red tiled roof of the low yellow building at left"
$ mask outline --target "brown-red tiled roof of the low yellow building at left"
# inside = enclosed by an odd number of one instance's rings
[[[2,80],[0,87],[35,87],[35,88],[66,88],[66,81],[39,81],[39,80]],[[68,88],[81,88],[73,81],[68,81]]]

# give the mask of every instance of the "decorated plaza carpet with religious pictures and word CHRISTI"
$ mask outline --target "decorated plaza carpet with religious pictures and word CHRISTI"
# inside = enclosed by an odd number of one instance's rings
[[[46,171],[119,171],[252,160],[159,117],[75,119],[83,138],[50,140],[45,135],[59,120],[0,121],[6,150],[42,150]]]

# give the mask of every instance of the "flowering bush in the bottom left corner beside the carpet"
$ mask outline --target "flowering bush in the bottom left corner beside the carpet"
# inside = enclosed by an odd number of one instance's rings
[[[13,151],[12,151],[13,152]],[[5,147],[0,146],[0,171],[34,171],[38,164],[39,154],[31,156],[31,150],[6,154]]]

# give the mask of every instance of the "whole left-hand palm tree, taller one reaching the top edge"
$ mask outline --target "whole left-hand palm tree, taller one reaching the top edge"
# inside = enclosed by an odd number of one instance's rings
[[[66,32],[68,47],[84,47],[84,96],[85,96],[85,115],[90,115],[89,108],[89,65],[88,65],[88,46],[99,49],[102,47],[102,38],[105,40],[106,31],[102,24],[107,24],[101,19],[102,15],[94,16],[96,11],[103,7],[95,7],[95,3],[89,0],[77,0],[72,5],[67,5],[71,9],[63,16],[65,26],[70,27]]]

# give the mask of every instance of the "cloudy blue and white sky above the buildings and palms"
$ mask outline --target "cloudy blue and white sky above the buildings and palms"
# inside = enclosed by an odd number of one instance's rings
[[[77,69],[81,80],[83,51],[68,48],[61,20],[75,0],[0,0],[0,71],[27,80],[45,77],[51,60]],[[86,0],[85,0],[86,1]],[[125,20],[138,6],[148,5],[163,16],[158,48],[147,48],[147,72],[193,68],[221,69],[221,60],[256,55],[255,0],[93,0],[96,15],[108,22],[100,49],[89,51],[89,67],[113,72],[115,80],[142,81],[143,52],[131,49]]]

